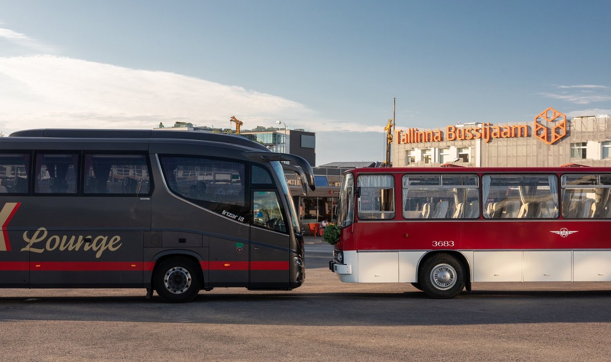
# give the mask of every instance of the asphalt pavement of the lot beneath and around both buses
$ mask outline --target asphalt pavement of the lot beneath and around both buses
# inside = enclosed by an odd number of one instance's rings
[[[608,361],[611,283],[342,283],[305,239],[294,290],[0,289],[0,361]]]

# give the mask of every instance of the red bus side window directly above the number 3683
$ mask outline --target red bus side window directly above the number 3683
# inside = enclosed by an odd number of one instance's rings
[[[402,182],[406,219],[480,217],[477,175],[408,174]]]

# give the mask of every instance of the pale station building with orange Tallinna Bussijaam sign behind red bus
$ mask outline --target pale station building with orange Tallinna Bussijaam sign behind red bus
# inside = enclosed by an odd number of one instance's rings
[[[395,128],[392,166],[611,166],[611,117],[548,108],[530,122],[474,122],[442,128]]]

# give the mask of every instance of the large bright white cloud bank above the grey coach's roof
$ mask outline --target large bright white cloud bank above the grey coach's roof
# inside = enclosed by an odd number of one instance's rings
[[[324,119],[282,97],[169,72],[138,70],[59,56],[0,57],[0,130],[145,128],[181,120],[243,128],[382,131]]]

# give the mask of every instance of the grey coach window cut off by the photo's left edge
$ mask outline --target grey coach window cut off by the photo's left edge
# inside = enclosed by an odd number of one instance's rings
[[[0,193],[27,193],[30,155],[25,153],[0,154]]]

